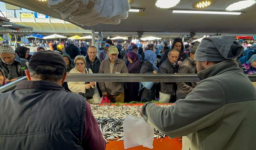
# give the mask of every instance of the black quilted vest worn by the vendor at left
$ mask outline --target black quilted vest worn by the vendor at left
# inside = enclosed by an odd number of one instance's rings
[[[0,150],[82,150],[86,102],[47,81],[0,95]]]

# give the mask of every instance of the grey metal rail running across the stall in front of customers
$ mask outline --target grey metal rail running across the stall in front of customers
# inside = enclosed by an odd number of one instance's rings
[[[246,74],[252,82],[256,75]],[[0,87],[0,92],[16,86],[26,76]],[[197,74],[68,74],[66,82],[199,82]]]

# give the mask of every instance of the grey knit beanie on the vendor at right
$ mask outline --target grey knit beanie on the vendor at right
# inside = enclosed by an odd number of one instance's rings
[[[222,62],[241,56],[244,46],[234,39],[236,36],[211,36],[203,38],[196,49],[196,61]]]

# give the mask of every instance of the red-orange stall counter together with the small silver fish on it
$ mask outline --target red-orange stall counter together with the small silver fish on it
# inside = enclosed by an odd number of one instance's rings
[[[143,104],[92,104],[92,112],[96,118],[100,130],[106,142],[106,150],[124,149],[123,122],[127,115],[140,116],[139,110]],[[168,107],[172,104],[157,104]],[[181,150],[182,141],[180,138],[168,138],[154,129],[153,147],[156,150]],[[129,150],[146,150],[142,146],[128,148]]]

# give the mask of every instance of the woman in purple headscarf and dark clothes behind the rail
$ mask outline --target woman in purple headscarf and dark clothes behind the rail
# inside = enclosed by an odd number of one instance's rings
[[[138,59],[136,52],[128,52],[127,58],[128,73],[139,74],[142,61]],[[124,90],[124,102],[138,101],[140,102],[141,96],[139,96],[140,82],[126,82],[127,88]]]

